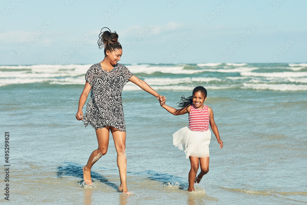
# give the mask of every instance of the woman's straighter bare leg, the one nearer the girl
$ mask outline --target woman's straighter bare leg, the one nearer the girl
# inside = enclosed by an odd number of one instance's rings
[[[120,186],[119,191],[124,194],[130,194],[126,184],[127,159],[126,159],[126,132],[121,132],[111,127],[114,139],[115,149],[117,152],[117,166],[119,169]]]

